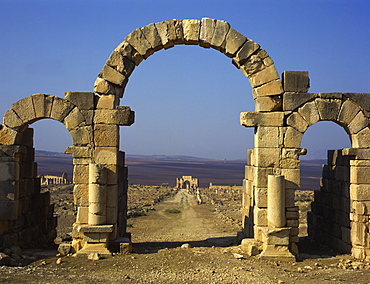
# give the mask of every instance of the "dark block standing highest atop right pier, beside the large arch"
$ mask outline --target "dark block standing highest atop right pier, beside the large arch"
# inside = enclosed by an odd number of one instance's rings
[[[282,78],[285,92],[307,93],[310,88],[308,71],[284,71]]]

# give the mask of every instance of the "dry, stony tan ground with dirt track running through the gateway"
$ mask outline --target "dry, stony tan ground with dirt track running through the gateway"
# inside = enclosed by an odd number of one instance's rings
[[[56,241],[65,241],[75,218],[71,187],[51,191],[59,216]],[[129,192],[132,254],[92,261],[56,256],[55,250],[24,250],[17,260],[21,265],[0,266],[0,282],[370,283],[370,263],[335,255],[305,238],[295,263],[245,257],[235,243],[241,229],[238,188],[217,194],[201,189],[202,204],[187,191],[167,186],[131,186]],[[297,192],[302,216],[311,196]]]

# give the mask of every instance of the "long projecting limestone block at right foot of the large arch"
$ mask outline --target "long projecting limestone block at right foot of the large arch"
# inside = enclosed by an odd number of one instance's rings
[[[245,127],[254,126],[283,126],[283,112],[242,112],[240,113],[240,124]]]

